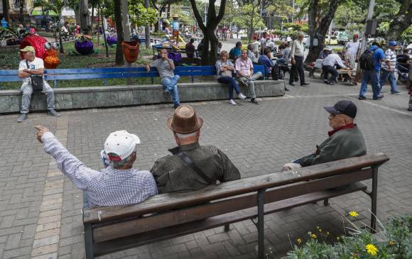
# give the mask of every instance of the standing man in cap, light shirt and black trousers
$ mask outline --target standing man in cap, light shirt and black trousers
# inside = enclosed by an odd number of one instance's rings
[[[289,85],[295,86],[293,84],[293,75],[299,73],[300,86],[305,87],[308,83],[305,82],[305,72],[303,70],[303,38],[305,35],[303,33],[298,34],[298,38],[293,40],[291,48],[291,60],[292,60],[292,72],[289,77]]]

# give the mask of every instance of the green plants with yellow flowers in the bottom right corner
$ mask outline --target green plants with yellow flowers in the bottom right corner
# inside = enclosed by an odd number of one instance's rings
[[[309,232],[308,241],[297,240],[288,259],[407,259],[412,258],[412,216],[391,219],[381,231],[370,233],[368,228],[351,223],[350,236],[337,238],[337,243],[325,242],[327,235]],[[364,224],[363,224],[364,225]],[[313,236],[315,235],[315,236]],[[326,238],[325,238],[326,237]],[[299,239],[299,238],[298,238]]]

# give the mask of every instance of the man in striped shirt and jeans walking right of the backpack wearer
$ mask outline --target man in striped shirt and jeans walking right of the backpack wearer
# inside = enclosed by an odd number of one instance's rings
[[[395,48],[398,43],[396,41],[391,40],[389,41],[389,49],[385,52],[385,62],[382,63],[382,75],[381,80],[379,81],[379,85],[381,89],[384,88],[384,84],[386,80],[389,79],[389,83],[391,84],[391,94],[399,94],[398,91],[398,84],[396,84],[396,53]]]

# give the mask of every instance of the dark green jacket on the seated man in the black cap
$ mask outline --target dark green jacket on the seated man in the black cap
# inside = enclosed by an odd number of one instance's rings
[[[300,158],[300,165],[318,165],[345,158],[366,155],[364,136],[357,126],[341,129],[317,146],[316,153]]]

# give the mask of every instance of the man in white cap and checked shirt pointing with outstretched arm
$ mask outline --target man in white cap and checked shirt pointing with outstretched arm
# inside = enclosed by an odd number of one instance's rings
[[[106,168],[92,170],[63,147],[44,126],[35,126],[37,139],[45,152],[57,160],[58,169],[85,192],[85,206],[116,206],[142,202],[158,194],[156,182],[148,171],[132,166],[136,160],[139,137],[127,131],[110,133],[104,142],[102,157]]]

